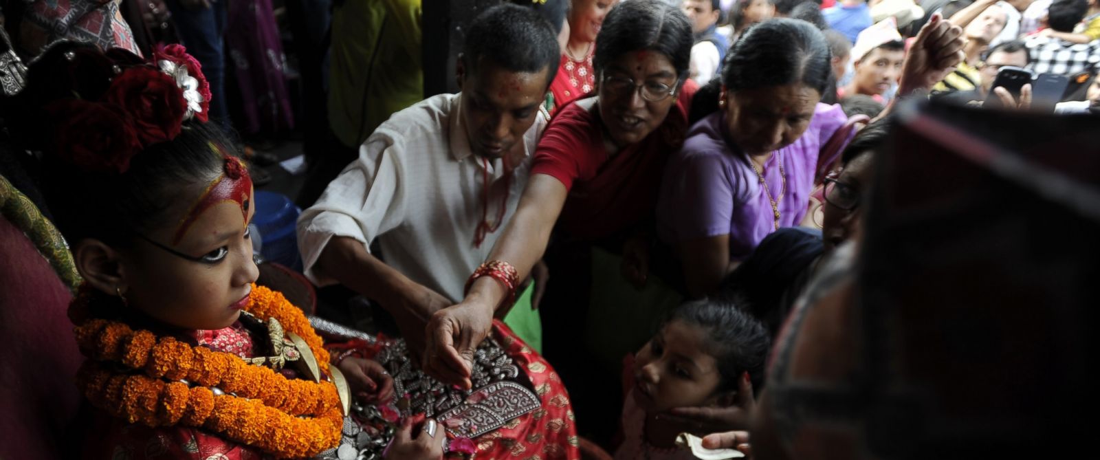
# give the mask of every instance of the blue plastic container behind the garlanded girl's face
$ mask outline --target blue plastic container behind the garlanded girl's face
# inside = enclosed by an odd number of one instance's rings
[[[295,233],[299,213],[301,210],[285,195],[256,191],[256,215],[252,223],[256,224],[264,242],[260,255],[300,272],[301,256]]]

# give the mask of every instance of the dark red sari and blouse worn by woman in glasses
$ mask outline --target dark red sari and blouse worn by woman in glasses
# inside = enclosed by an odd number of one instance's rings
[[[598,113],[576,103],[561,109],[535,151],[531,174],[561,180],[569,190],[558,224],[572,238],[597,240],[653,215],[668,158],[688,131],[688,110],[698,89],[684,83],[664,122],[614,155],[604,149]]]

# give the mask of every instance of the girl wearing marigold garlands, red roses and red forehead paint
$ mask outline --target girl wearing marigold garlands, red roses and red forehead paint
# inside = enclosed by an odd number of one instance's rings
[[[41,152],[84,278],[69,307],[87,357],[79,457],[442,456],[435,420],[376,409],[393,393],[380,363],[330,360],[302,311],[254,284],[252,182],[205,123],[208,85],[182,46],[145,62],[59,43],[26,81],[4,119]]]

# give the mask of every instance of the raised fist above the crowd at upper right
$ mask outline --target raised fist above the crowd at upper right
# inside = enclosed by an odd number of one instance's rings
[[[942,81],[963,62],[963,29],[943,19],[939,13],[921,28],[902,64],[898,96],[928,89]]]

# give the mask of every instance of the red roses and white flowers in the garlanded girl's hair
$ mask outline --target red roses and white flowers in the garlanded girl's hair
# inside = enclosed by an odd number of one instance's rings
[[[183,46],[158,47],[153,63],[122,50],[57,46],[22,95],[45,117],[31,117],[47,129],[32,147],[81,169],[122,174],[134,155],[178,136],[185,121],[208,119],[210,85]]]

